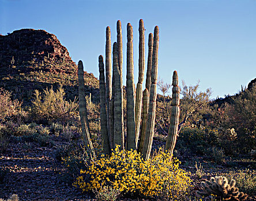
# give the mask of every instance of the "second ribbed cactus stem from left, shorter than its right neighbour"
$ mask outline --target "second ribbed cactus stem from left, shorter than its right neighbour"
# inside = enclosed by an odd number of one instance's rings
[[[100,71],[100,127],[101,138],[103,141],[103,150],[106,155],[110,155],[110,138],[108,136],[107,111],[106,111],[106,86],[104,75],[103,56],[99,56]]]

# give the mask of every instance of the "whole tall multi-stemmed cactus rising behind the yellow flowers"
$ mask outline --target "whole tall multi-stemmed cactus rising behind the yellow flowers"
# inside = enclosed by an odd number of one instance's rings
[[[148,64],[146,71],[146,88],[142,93],[142,83],[144,80],[145,71],[145,28],[143,20],[140,20],[139,25],[139,76],[138,83],[135,89],[134,85],[134,61],[133,61],[133,27],[130,23],[127,24],[127,123],[126,123],[126,144],[125,144],[125,129],[123,123],[123,80],[122,80],[122,26],[121,21],[116,24],[117,38],[112,48],[111,62],[111,30],[108,26],[106,29],[106,76],[104,75],[103,56],[99,56],[99,71],[100,71],[100,118],[101,118],[101,136],[103,139],[103,149],[105,154],[110,154],[110,150],[120,145],[122,149],[135,150],[137,149],[144,159],[148,159],[152,149],[152,142],[155,128],[156,118],[156,83],[158,71],[158,50],[159,50],[159,28],[155,27],[154,35],[149,34],[148,39]],[[112,65],[112,75],[111,75]],[[82,63],[78,63],[79,76],[79,91],[84,91],[84,83],[82,83]],[[168,150],[174,148],[171,146],[173,141],[176,141],[176,127],[179,119],[179,87],[178,76],[175,71],[174,76],[174,97],[173,112],[174,126],[170,129],[171,137],[168,140]],[[112,76],[112,78],[111,78]],[[105,81],[106,80],[106,81]],[[84,96],[80,95],[80,108],[84,107]],[[143,107],[142,107],[143,105]],[[86,113],[80,109],[82,132],[89,148],[93,148],[89,135],[88,119]],[[141,123],[142,114],[142,123]],[[141,132],[140,132],[141,131]],[[174,144],[175,145],[175,144]],[[169,148],[170,146],[170,148]],[[172,153],[172,151],[171,151]]]

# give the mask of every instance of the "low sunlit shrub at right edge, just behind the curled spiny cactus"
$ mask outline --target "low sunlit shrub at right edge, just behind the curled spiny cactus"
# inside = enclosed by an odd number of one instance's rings
[[[234,179],[240,191],[249,195],[256,195],[256,171],[250,169],[231,171],[225,173],[225,176],[228,179]]]

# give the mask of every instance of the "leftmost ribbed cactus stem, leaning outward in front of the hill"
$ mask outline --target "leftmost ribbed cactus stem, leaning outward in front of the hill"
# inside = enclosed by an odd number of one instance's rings
[[[92,150],[94,154],[94,149],[91,141],[91,135],[89,132],[89,123],[86,110],[86,100],[85,100],[85,88],[84,88],[84,66],[82,61],[78,62],[78,96],[79,96],[79,114],[82,126],[82,137],[85,141],[85,145]]]

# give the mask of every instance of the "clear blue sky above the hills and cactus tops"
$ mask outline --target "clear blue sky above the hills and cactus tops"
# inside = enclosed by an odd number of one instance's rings
[[[126,76],[126,25],[134,30],[134,78],[138,79],[138,22],[144,20],[145,44],[160,29],[159,76],[211,87],[212,99],[235,94],[256,77],[256,0],[0,0],[0,33],[22,28],[53,33],[72,59],[99,77],[98,57],[105,55],[105,31],[116,41],[123,29]],[[146,48],[147,56],[148,48]],[[125,79],[124,79],[125,81]],[[180,82],[181,83],[181,82]],[[125,84],[125,83],[124,83]]]

